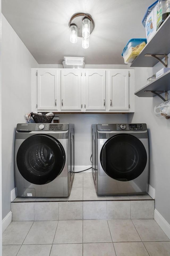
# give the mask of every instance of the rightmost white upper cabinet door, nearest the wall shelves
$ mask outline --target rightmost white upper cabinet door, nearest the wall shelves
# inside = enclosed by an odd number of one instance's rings
[[[107,72],[108,110],[129,110],[129,71],[113,69]]]

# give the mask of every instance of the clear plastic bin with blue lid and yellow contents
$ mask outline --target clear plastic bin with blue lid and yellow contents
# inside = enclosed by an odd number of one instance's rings
[[[142,49],[147,43],[146,38],[133,38],[130,39],[122,51],[122,56],[124,57],[124,62],[126,64],[131,64],[134,59],[139,55]]]

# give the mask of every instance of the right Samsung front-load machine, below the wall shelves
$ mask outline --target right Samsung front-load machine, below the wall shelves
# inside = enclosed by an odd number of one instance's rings
[[[92,175],[97,195],[146,194],[146,123],[92,125]]]

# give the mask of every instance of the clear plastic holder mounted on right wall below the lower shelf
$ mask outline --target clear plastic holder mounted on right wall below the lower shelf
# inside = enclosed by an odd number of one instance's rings
[[[170,116],[170,101],[164,101],[154,107],[154,113],[157,117]]]

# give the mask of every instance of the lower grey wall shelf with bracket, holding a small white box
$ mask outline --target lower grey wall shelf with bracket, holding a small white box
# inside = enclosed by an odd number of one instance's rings
[[[169,43],[170,44],[170,43]],[[163,91],[170,90],[170,71],[167,71],[155,81],[148,83],[146,86],[142,87],[140,90],[135,92],[135,95],[138,97],[154,97],[156,94],[152,91],[156,91],[159,94],[162,94]]]

